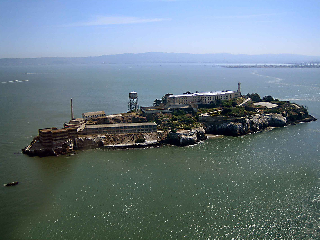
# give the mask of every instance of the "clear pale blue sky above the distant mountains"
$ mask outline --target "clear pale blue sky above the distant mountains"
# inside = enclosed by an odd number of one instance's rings
[[[0,1],[0,57],[320,55],[320,1]]]

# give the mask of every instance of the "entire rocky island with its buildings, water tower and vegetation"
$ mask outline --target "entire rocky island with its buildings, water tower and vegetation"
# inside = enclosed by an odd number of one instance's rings
[[[86,148],[145,148],[166,144],[187,146],[215,135],[242,136],[268,127],[315,121],[308,108],[272,96],[237,91],[165,94],[153,106],[139,107],[138,93],[130,92],[128,111],[106,115],[85,112],[64,128],[39,129],[22,152],[29,156],[73,155]]]

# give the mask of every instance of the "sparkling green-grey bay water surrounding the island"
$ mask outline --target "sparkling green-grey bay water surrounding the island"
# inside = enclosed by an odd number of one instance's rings
[[[21,74],[22,72],[34,74]],[[125,112],[128,92],[236,90],[308,106],[319,69],[198,64],[1,67],[1,239],[318,239],[319,121],[189,147],[20,154],[38,128]],[[28,81],[26,81],[28,80]],[[21,82],[25,81],[25,82]],[[16,154],[14,154],[16,153]]]

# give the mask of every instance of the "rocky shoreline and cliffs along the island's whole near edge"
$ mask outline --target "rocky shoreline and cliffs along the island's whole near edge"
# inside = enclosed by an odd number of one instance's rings
[[[145,148],[158,147],[163,145],[188,146],[199,143],[207,139],[207,134],[242,136],[249,133],[259,132],[268,127],[283,127],[289,124],[300,122],[316,121],[311,115],[300,115],[292,117],[284,112],[283,114],[258,114],[241,119],[206,121],[202,126],[178,132],[158,131],[154,133],[138,134],[111,134],[98,136],[78,137],[76,140],[69,140],[67,143],[56,147],[43,147],[39,143],[38,137],[25,147],[22,152],[29,156],[59,156],[70,154],[76,150],[88,148],[108,148],[108,149],[125,149],[125,148]],[[134,144],[134,137],[145,138],[146,143]]]

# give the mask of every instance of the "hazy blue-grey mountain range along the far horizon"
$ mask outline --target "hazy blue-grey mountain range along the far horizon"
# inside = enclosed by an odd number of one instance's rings
[[[110,63],[298,63],[320,61],[320,56],[297,54],[230,54],[230,53],[175,53],[145,52],[102,55],[97,57],[41,57],[41,58],[2,58],[1,66],[13,65],[56,65],[56,64],[110,64]]]

